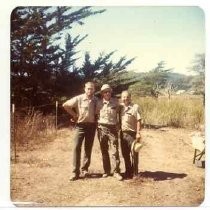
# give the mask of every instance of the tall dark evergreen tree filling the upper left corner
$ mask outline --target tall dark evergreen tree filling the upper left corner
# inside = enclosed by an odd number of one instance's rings
[[[13,10],[11,91],[16,104],[23,105],[26,101],[28,105],[37,105],[42,103],[42,98],[46,103],[56,95],[55,91],[59,94],[62,82],[58,78],[74,74],[74,48],[85,36],[69,35],[65,49],[55,42],[74,24],[83,25],[85,18],[102,12],[104,10],[93,11],[91,7],[17,7]]]

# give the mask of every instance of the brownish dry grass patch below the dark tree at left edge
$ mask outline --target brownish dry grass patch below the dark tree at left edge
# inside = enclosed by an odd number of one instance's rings
[[[55,117],[44,116],[38,111],[16,112],[12,122],[12,143],[21,148],[33,148],[37,144],[50,141],[56,134]]]

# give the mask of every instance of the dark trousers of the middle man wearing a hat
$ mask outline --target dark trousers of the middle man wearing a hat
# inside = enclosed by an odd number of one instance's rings
[[[120,172],[120,157],[119,157],[119,144],[118,144],[118,132],[116,126],[99,126],[98,138],[102,153],[102,161],[104,172],[111,173]],[[109,151],[111,153],[111,162]],[[111,167],[112,163],[112,167]]]

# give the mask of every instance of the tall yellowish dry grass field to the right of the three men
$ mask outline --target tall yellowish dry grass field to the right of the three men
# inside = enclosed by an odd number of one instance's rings
[[[167,97],[135,97],[133,100],[140,105],[145,124],[192,129],[204,124],[200,97],[173,96],[170,100]]]

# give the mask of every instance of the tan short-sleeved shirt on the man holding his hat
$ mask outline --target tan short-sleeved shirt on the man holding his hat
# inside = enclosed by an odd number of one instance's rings
[[[121,104],[121,128],[122,131],[135,131],[137,130],[137,121],[141,120],[139,106],[137,104],[130,104],[125,106]]]

